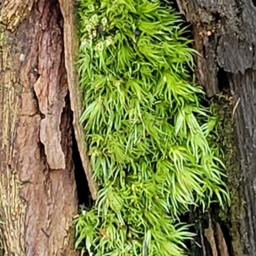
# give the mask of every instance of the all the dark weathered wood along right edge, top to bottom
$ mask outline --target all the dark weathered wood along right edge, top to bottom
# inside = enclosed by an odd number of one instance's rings
[[[240,174],[232,194],[233,254],[256,255],[256,1],[177,0],[193,24],[199,83],[209,97],[232,94]],[[234,188],[232,188],[234,190]]]

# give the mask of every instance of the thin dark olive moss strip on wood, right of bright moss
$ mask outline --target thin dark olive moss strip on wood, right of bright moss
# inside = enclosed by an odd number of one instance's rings
[[[244,212],[244,195],[241,190],[241,166],[239,153],[237,152],[237,134],[234,131],[234,116],[232,115],[233,103],[232,98],[227,92],[223,92],[218,97],[212,99],[212,108],[214,113],[218,116],[216,125],[216,136],[214,141],[218,147],[223,150],[223,161],[225,157],[225,172],[227,178],[228,191],[230,193],[229,205],[225,205],[223,209],[218,209],[220,220],[225,223],[230,232],[229,236],[232,238],[232,248],[234,256],[243,256],[243,244],[241,243],[241,234],[246,232],[241,227],[245,218]]]

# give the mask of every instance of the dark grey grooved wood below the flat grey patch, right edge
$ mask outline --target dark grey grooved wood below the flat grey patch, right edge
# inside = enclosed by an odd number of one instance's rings
[[[241,228],[244,255],[256,255],[256,71],[229,74],[228,83],[234,102],[240,100],[235,113],[237,138],[243,171],[246,216]],[[238,212],[237,212],[238,214]]]

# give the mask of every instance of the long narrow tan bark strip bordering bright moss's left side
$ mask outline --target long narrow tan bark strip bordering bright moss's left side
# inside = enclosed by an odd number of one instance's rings
[[[65,44],[65,67],[67,70],[68,90],[70,93],[70,105],[73,111],[73,127],[76,136],[77,147],[81,156],[84,172],[88,180],[88,187],[92,195],[92,199],[97,199],[97,183],[93,180],[90,161],[87,153],[86,138],[83,127],[79,124],[79,118],[82,115],[83,97],[79,89],[78,76],[76,70],[76,54],[78,49],[78,40],[75,31],[74,20],[74,1],[59,0],[61,12],[64,18],[64,44]]]

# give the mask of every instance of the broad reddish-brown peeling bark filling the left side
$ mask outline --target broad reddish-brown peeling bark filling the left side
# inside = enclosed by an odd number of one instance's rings
[[[57,0],[33,2],[1,6],[4,255],[72,256],[77,195],[63,17]]]

